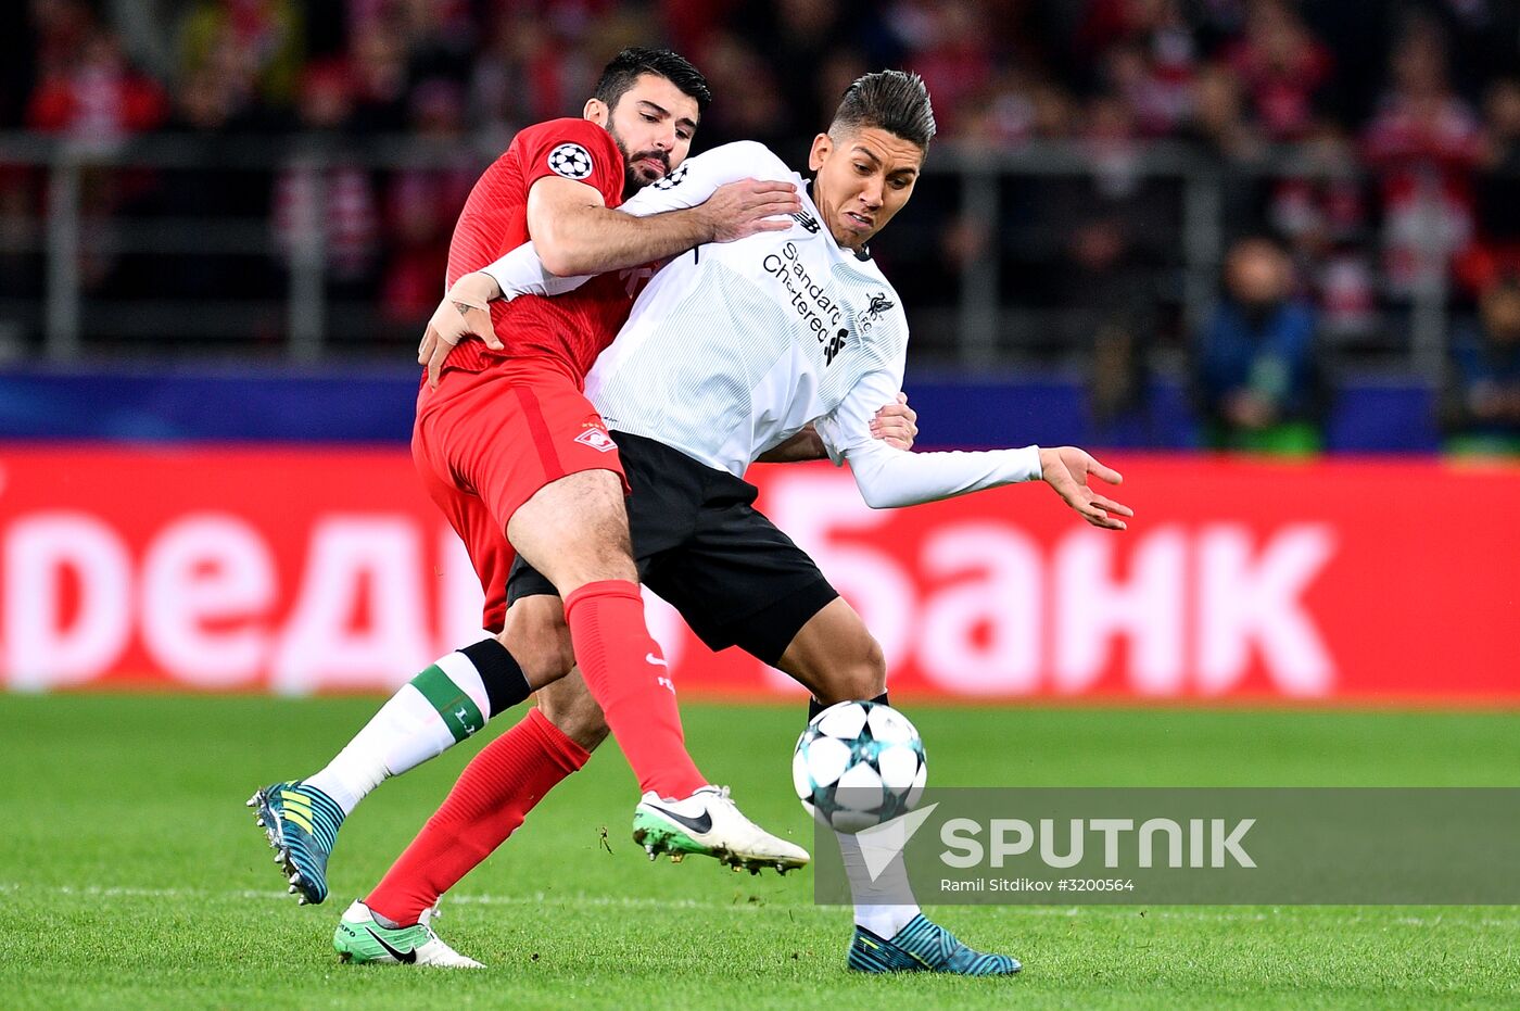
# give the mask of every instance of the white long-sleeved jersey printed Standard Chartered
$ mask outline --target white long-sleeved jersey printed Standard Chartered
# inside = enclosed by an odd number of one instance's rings
[[[869,255],[834,242],[807,182],[765,144],[739,141],[689,158],[619,210],[682,210],[740,179],[795,184],[801,213],[786,231],[698,246],[655,272],[587,376],[587,397],[610,429],[743,476],[812,421],[830,459],[850,459],[874,506],[1040,476],[1038,447],[904,453],[871,436],[871,418],[903,386],[901,299]],[[532,243],[486,272],[506,298],[555,295],[587,280],[547,274]]]

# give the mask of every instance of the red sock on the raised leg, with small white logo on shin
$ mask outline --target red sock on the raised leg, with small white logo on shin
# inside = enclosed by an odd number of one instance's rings
[[[644,628],[638,585],[626,579],[588,582],[565,597],[575,658],[638,789],[690,797],[707,780],[686,751],[675,684],[660,645]]]

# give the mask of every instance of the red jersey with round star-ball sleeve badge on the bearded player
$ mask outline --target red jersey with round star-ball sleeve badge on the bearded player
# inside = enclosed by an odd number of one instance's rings
[[[584,119],[559,119],[517,134],[465,201],[448,246],[448,284],[489,266],[529,240],[527,190],[549,175],[585,182],[608,207],[623,201],[623,155],[611,134]],[[491,322],[506,345],[492,351],[465,341],[444,368],[471,372],[506,359],[549,357],[581,383],[613,342],[649,271],[603,274],[555,298],[523,295],[491,304]]]

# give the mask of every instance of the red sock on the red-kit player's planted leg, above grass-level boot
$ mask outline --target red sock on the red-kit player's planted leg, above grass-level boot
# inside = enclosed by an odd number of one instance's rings
[[[591,753],[534,708],[477,754],[412,845],[365,898],[388,920],[412,926],[473,871]]]

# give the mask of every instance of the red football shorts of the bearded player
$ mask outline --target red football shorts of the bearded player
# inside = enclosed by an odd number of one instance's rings
[[[506,578],[517,552],[506,525],[540,488],[565,474],[610,470],[617,445],[591,401],[549,363],[511,360],[480,372],[448,369],[416,395],[412,461],[429,497],[470,552],[485,590],[480,626],[506,620]]]

